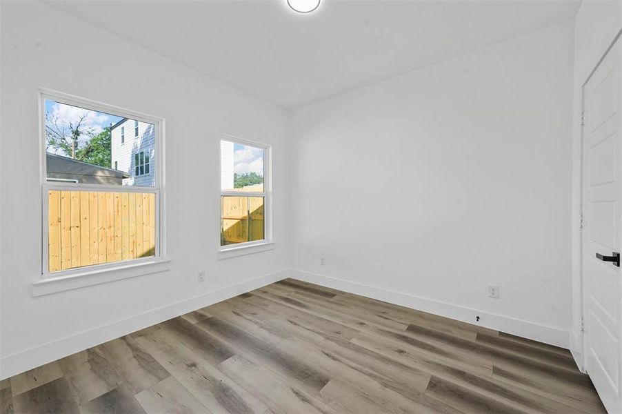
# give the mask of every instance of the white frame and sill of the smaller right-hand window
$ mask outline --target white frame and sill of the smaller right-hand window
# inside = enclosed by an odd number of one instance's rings
[[[263,150],[263,193],[259,191],[225,191],[222,189],[222,141],[229,141],[233,144],[241,144],[252,146]],[[218,237],[219,259],[228,259],[240,255],[248,255],[250,253],[258,253],[264,250],[272,250],[274,248],[274,239],[272,238],[272,146],[261,144],[257,141],[234,137],[232,135],[221,135],[219,139],[218,152],[218,183],[220,188],[219,203],[222,206],[221,197],[263,197],[263,239],[254,242],[244,242],[221,246],[220,232]],[[222,207],[218,209],[218,228],[222,230]]]

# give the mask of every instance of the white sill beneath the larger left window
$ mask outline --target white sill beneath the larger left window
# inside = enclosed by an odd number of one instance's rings
[[[93,268],[69,275],[48,276],[32,282],[32,296],[43,296],[129,277],[151,275],[165,272],[169,268],[170,259],[157,258],[145,262],[119,264],[112,268]]]

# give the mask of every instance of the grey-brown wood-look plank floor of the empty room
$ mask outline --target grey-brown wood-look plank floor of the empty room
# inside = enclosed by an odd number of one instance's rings
[[[603,413],[568,351],[293,279],[0,383],[2,413]]]

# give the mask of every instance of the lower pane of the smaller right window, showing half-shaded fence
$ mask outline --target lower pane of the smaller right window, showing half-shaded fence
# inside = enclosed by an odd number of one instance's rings
[[[264,237],[263,197],[221,197],[221,246]]]

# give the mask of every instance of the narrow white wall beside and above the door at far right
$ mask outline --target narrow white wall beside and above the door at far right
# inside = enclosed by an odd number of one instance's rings
[[[574,96],[572,122],[572,329],[570,350],[583,370],[581,333],[581,91],[596,63],[622,30],[622,1],[584,0],[574,29]]]

